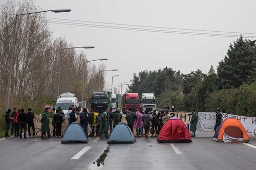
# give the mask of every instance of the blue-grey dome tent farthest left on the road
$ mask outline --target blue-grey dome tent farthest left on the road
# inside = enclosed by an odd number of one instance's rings
[[[88,139],[80,124],[73,122],[66,129],[61,143],[88,143]]]

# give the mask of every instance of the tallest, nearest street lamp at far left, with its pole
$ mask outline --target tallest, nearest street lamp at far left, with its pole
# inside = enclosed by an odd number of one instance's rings
[[[16,25],[17,25],[17,18],[21,15],[29,15],[29,14],[36,14],[41,12],[70,12],[70,9],[58,9],[58,10],[46,10],[46,11],[38,11],[38,12],[30,12],[30,13],[24,13],[24,14],[16,14],[15,15],[15,21],[14,21],[14,27],[13,27],[13,35],[12,35],[12,48],[11,48],[11,58],[10,58],[10,64],[9,64],[9,72],[8,72],[8,83],[7,83],[7,90],[6,90],[6,101],[5,101],[5,110],[8,110],[9,108],[9,100],[10,100],[10,91],[11,91],[11,80],[12,80],[12,67],[13,67],[13,58],[14,58],[14,48],[16,43]]]

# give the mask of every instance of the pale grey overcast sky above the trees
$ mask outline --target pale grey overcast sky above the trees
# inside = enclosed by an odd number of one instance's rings
[[[2,3],[5,0],[0,0]],[[37,0],[42,9],[72,9],[68,13],[47,13],[47,17],[154,27],[256,33],[256,1],[84,1]],[[50,23],[54,37],[65,37],[74,46],[95,46],[86,50],[91,60],[108,58],[108,87],[130,81],[133,73],[165,66],[183,74],[215,68],[237,38],[141,32]],[[178,30],[176,30],[178,31]],[[184,30],[183,30],[184,31]],[[221,33],[224,34],[224,33]],[[237,36],[239,34],[236,34]],[[256,36],[254,34],[253,36]]]

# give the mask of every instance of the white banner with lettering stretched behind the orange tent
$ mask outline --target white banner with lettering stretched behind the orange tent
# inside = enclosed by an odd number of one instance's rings
[[[222,121],[227,117],[236,117],[244,126],[244,129],[251,137],[256,137],[256,117],[246,117],[233,114],[222,113]],[[216,123],[215,112],[198,112],[197,130],[204,132],[214,132]]]

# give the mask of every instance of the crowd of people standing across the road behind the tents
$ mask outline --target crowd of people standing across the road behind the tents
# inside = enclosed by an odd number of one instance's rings
[[[49,113],[51,111],[50,107],[46,107],[44,109],[44,113],[42,113],[41,117],[41,139],[50,138],[50,116]],[[176,108],[172,107],[172,112],[175,112]],[[67,115],[67,124],[70,125],[73,122],[78,122],[79,115],[79,124],[83,128],[87,137],[92,136],[100,136],[109,138],[109,129],[110,133],[113,130],[113,127],[117,125],[122,120],[122,113],[119,108],[115,112],[112,111],[112,108],[106,109],[106,111],[102,112],[101,110],[88,110],[87,108],[83,108],[80,112],[80,108],[77,109],[72,105],[69,108],[69,111],[66,113]],[[63,113],[62,109],[59,107],[56,110],[56,113],[52,117],[52,126],[53,126],[53,136],[60,137],[61,136],[61,127],[64,122],[65,113]],[[27,138],[27,127],[28,134],[30,137],[35,136],[35,126],[34,126],[34,113],[32,109],[28,109],[28,112],[25,113],[24,109],[8,109],[5,114],[6,120],[6,133],[5,137],[10,137],[8,134],[9,128],[11,127],[11,136],[22,138],[22,133],[24,132],[24,138]],[[158,137],[159,131],[164,123],[170,118],[169,110],[165,107],[164,110],[156,112],[153,110],[152,115],[148,113],[147,110],[142,112],[137,109],[136,112],[133,112],[132,109],[129,109],[129,112],[126,114],[125,119],[127,121],[127,126],[134,133],[136,130],[136,136],[145,136],[148,138],[149,133],[151,136]],[[196,137],[196,127],[198,122],[198,112],[196,109],[192,109],[192,116],[190,120],[190,133],[191,137]],[[221,124],[221,112],[218,108],[216,111],[216,125],[214,130]],[[32,128],[32,134],[30,129]],[[90,135],[88,134],[88,128]],[[144,133],[143,133],[144,129]]]

